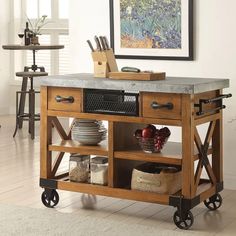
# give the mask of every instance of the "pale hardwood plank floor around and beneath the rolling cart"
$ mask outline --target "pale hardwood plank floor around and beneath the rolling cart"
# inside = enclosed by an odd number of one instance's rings
[[[0,123],[0,203],[44,208],[41,203],[42,189],[39,187],[39,124],[36,127],[36,138],[28,135],[28,124],[24,124],[15,138],[12,138],[14,116],[1,116]],[[65,160],[64,166],[68,163]],[[135,202],[97,196],[96,209],[84,209],[80,193],[59,191],[60,202],[54,209],[63,213],[78,212],[82,215],[93,215],[126,221],[160,226],[164,229],[177,229],[172,221],[175,209],[170,206]],[[222,207],[210,212],[203,204],[195,207],[194,225],[190,232],[201,235],[235,235],[236,232],[236,191],[224,190]]]

